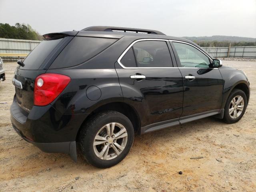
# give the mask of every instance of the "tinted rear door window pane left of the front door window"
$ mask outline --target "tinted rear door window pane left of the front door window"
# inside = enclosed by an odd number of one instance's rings
[[[165,41],[140,41],[133,45],[138,67],[171,67],[172,60]]]

